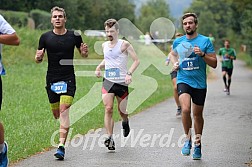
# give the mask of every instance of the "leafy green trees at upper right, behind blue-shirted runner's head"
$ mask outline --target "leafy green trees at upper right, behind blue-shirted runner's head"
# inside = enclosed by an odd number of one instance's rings
[[[199,16],[199,32],[212,33],[217,44],[228,38],[238,48],[241,44],[251,47],[252,4],[250,0],[194,0],[186,10]],[[250,53],[251,49],[249,48]]]

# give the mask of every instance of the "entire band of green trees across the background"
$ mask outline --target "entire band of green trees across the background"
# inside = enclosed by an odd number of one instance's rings
[[[39,9],[50,13],[53,6],[65,8],[67,27],[72,29],[102,30],[103,22],[108,18],[127,18],[142,32],[158,17],[172,21],[170,7],[165,0],[149,0],[140,8],[140,15],[135,15],[133,0],[0,0],[2,10],[30,12]],[[223,39],[230,39],[236,47],[247,46],[252,55],[252,3],[250,0],[193,0],[184,12],[194,12],[199,16],[198,32],[203,35],[213,34],[216,46],[222,45]],[[48,22],[50,22],[48,20]],[[180,28],[178,31],[183,32]]]

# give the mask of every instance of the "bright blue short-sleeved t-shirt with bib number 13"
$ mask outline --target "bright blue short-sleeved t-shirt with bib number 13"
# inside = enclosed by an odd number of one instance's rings
[[[173,50],[179,55],[177,84],[185,83],[193,88],[205,89],[207,87],[206,62],[193,52],[195,46],[206,54],[215,52],[209,38],[201,34],[193,39],[187,39],[184,35],[173,42]]]

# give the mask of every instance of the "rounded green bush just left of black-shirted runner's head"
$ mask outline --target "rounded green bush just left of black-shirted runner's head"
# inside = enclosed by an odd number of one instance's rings
[[[47,30],[51,28],[50,13],[43,10],[34,9],[31,10],[30,17],[34,20],[36,29]]]

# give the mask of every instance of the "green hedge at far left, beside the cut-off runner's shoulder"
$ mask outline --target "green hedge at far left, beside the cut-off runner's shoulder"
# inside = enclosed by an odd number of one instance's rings
[[[26,27],[28,23],[28,13],[16,11],[0,10],[3,17],[13,26]]]

